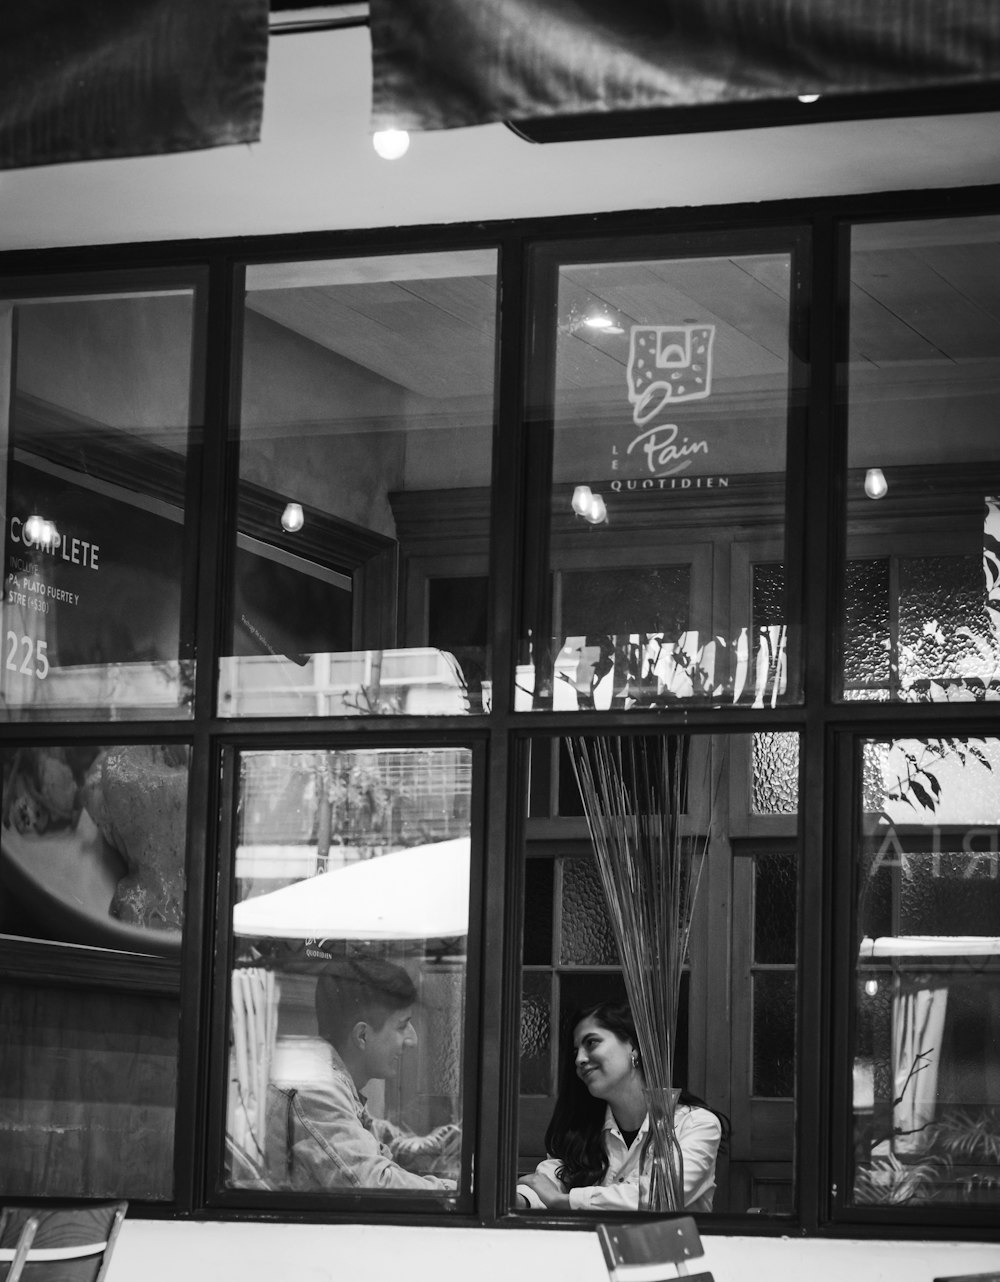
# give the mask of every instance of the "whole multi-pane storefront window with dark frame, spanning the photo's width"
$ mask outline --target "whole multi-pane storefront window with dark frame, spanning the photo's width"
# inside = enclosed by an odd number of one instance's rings
[[[0,1195],[529,1218],[573,1011],[649,991],[686,1209],[988,1220],[985,199],[6,277]],[[628,860],[697,850],[655,936]]]

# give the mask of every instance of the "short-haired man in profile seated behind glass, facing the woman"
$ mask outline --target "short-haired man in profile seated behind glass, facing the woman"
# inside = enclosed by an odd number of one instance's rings
[[[428,1172],[455,1168],[460,1128],[410,1135],[372,1117],[362,1094],[374,1078],[395,1078],[404,1050],[417,1045],[415,1000],[413,981],[390,962],[349,958],[324,968],[315,986],[315,1014],[328,1074],[322,1085],[269,1088],[267,1164],[273,1187],[454,1190],[453,1178]]]

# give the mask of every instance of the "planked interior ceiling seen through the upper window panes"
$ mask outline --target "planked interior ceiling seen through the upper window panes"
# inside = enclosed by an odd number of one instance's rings
[[[923,237],[859,232],[850,359],[862,376],[922,367],[928,377],[940,370],[950,381],[958,364],[1000,367],[1000,218],[933,226],[937,233]],[[781,386],[788,288],[783,255],[568,267],[559,294],[558,386],[571,400],[601,390],[621,395],[629,327],[686,322],[717,327],[721,391]],[[492,395],[491,276],[301,285],[251,291],[247,301],[415,395],[438,401]],[[597,310],[622,332],[583,324]]]

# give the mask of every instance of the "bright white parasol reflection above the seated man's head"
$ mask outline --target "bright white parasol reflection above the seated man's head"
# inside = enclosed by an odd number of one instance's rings
[[[469,928],[469,838],[346,864],[233,909],[233,932],[271,940],[438,940]]]

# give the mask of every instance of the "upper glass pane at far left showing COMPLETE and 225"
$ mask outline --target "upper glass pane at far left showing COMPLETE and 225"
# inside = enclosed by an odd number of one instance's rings
[[[3,715],[187,717],[195,291],[0,300]]]

